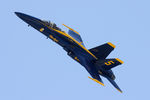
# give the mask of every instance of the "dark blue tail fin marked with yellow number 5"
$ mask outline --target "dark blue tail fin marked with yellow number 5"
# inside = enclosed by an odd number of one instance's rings
[[[102,68],[104,68],[106,70],[110,70],[111,68],[116,67],[118,65],[121,65],[122,63],[123,63],[123,61],[121,61],[118,58],[115,58],[115,59],[98,60],[96,62],[96,65],[98,67],[102,67]]]

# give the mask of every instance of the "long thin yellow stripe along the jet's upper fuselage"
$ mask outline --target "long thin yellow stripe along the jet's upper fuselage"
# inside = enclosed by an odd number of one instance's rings
[[[39,23],[41,23],[41,24],[43,24],[43,25],[45,25],[44,23],[42,23],[42,22],[40,22],[40,21],[38,21]],[[45,25],[45,26],[47,26],[47,25]],[[59,31],[59,30],[56,30],[56,29],[53,29],[53,28],[51,28],[51,27],[49,27],[49,26],[47,26],[49,29],[52,29],[52,30],[54,30],[54,31],[56,31],[56,32],[58,32],[58,33],[60,33],[60,34],[62,34],[62,35],[64,35],[64,36],[66,36],[66,37],[68,37],[68,38],[70,38],[70,39],[72,39],[74,42],[76,42],[80,47],[82,47],[86,52],[88,52],[90,55],[92,55],[95,59],[97,59],[97,57],[96,56],[94,56],[89,50],[87,50],[83,45],[81,45],[78,41],[76,41],[74,38],[72,38],[70,35],[68,35],[67,33],[64,33],[64,32],[62,32],[62,31]]]

